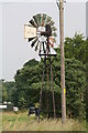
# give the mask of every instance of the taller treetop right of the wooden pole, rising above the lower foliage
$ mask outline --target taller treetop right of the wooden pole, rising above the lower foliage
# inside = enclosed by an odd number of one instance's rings
[[[65,57],[66,59],[75,58],[86,63],[86,41],[82,34],[75,34],[74,38],[65,39]]]

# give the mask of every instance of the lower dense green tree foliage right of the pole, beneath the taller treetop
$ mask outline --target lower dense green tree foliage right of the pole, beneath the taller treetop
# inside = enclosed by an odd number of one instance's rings
[[[86,75],[85,65],[75,59],[66,61],[67,113],[85,116]]]

